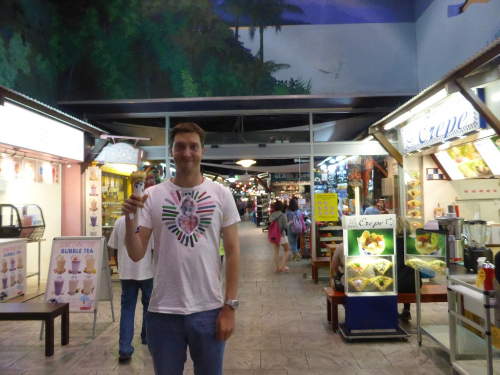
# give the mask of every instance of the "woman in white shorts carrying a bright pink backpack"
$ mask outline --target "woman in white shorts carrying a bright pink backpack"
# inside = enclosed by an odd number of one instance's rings
[[[288,254],[290,252],[290,246],[288,245],[288,239],[286,238],[286,228],[288,226],[288,219],[286,215],[281,212],[283,209],[283,202],[276,200],[272,203],[272,208],[274,212],[269,216],[269,242],[274,246],[274,264],[276,265],[276,272],[288,272],[288,267],[286,266],[286,261],[288,260]],[[274,232],[277,232],[275,234]],[[277,238],[279,236],[279,238]],[[284,254],[279,262],[279,245],[283,246]]]

